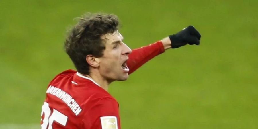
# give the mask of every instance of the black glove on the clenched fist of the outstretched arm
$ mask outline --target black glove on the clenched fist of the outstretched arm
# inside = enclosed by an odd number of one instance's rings
[[[179,48],[186,44],[199,45],[201,34],[193,26],[188,26],[177,34],[170,35],[169,39],[171,41],[171,48]]]

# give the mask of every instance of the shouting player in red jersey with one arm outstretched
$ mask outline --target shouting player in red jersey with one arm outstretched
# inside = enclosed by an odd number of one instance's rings
[[[131,50],[113,14],[81,18],[65,41],[77,71],[66,70],[49,83],[42,106],[42,129],[120,129],[118,102],[108,92],[128,75],[169,48],[199,45],[201,35],[188,26],[158,42]],[[172,42],[172,43],[171,43]]]

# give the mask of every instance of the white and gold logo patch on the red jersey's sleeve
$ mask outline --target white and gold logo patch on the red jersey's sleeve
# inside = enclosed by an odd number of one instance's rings
[[[116,116],[100,117],[102,129],[118,129]]]

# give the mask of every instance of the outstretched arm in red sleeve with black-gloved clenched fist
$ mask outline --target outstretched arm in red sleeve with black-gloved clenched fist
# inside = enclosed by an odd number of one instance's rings
[[[163,53],[169,48],[179,48],[186,44],[199,45],[200,38],[200,33],[193,26],[188,26],[177,34],[165,37],[161,41],[134,49],[132,50],[132,53],[129,54],[129,60],[127,61],[127,66],[130,69],[128,74],[131,74],[150,59]]]

